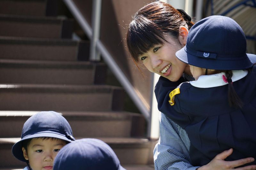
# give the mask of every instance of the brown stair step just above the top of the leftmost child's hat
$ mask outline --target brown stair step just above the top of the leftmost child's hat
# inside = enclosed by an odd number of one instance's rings
[[[0,85],[2,110],[122,110],[124,90],[110,85]]]

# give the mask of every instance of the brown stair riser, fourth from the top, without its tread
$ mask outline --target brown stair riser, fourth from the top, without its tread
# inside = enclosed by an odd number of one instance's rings
[[[1,65],[0,65],[1,67]],[[94,83],[94,68],[0,68],[1,84],[66,84],[91,85]]]

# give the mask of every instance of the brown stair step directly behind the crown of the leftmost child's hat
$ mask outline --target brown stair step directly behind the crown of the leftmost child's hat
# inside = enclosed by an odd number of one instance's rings
[[[37,112],[0,111],[0,138],[20,137],[23,124]],[[146,131],[146,121],[141,114],[124,111],[59,112],[68,120],[74,137],[142,137]]]

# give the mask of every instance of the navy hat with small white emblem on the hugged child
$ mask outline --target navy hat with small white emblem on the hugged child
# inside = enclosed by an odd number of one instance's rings
[[[243,70],[252,67],[246,54],[242,28],[231,18],[210,16],[191,27],[187,44],[176,52],[182,62],[214,70]]]

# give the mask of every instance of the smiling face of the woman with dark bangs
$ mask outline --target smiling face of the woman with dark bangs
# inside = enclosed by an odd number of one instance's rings
[[[140,55],[139,60],[149,71],[171,81],[178,81],[185,68],[189,69],[188,64],[183,63],[175,56],[176,51],[180,50],[183,45],[170,35],[166,35],[165,39],[167,42],[164,41],[163,44],[156,45],[147,53]]]

